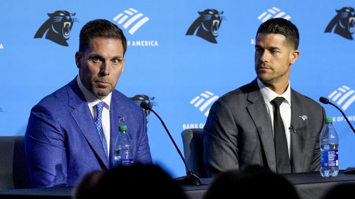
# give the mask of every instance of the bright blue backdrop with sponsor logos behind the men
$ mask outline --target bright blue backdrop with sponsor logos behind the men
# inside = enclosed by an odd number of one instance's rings
[[[116,88],[132,99],[149,100],[181,151],[182,130],[202,128],[219,96],[255,78],[255,32],[273,17],[289,19],[300,31],[291,86],[316,101],[327,97],[355,120],[354,0],[13,0],[0,5],[1,136],[24,135],[31,108],[74,78],[79,31],[96,18],[116,23],[128,40],[126,67]],[[214,32],[209,26],[195,31],[202,14],[220,22],[212,26]],[[46,38],[49,31],[40,32],[41,26],[62,15],[72,19],[72,27],[48,26],[60,31]],[[323,106],[339,135],[340,169],[355,167],[355,134],[338,110]],[[178,152],[152,113],[148,137],[154,163],[173,177],[185,175]]]

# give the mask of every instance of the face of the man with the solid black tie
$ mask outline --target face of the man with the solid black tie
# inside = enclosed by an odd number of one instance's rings
[[[286,42],[282,34],[258,34],[255,43],[255,72],[267,85],[288,85],[291,64],[295,63],[298,50]]]

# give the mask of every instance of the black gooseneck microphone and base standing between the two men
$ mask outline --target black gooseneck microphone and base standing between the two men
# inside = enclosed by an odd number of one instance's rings
[[[180,155],[183,163],[185,164],[185,168],[186,168],[186,175],[185,176],[181,176],[181,177],[177,177],[177,178],[174,178],[174,180],[176,182],[178,182],[178,184],[180,185],[201,185],[202,182],[200,180],[200,178],[195,175],[190,169],[189,167],[187,166],[187,162],[185,160],[185,158],[182,156],[182,153],[180,151],[180,149],[178,148],[178,145],[176,144],[176,142],[174,141],[172,135],[170,134],[168,128],[166,127],[164,121],[160,118],[160,116],[152,109],[149,107],[149,105],[145,102],[145,101],[142,101],[141,103],[141,107],[144,109],[144,110],[147,110],[147,111],[151,111],[153,112],[158,118],[159,120],[161,121],[161,123],[163,124],[164,128],[165,128],[165,131],[168,133],[171,141],[173,142],[175,148],[177,149],[178,151],[178,154]]]

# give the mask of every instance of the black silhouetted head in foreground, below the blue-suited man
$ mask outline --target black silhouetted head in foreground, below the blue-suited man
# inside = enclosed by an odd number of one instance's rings
[[[181,186],[157,165],[134,164],[102,171],[85,199],[186,199]],[[83,199],[83,198],[76,198]]]

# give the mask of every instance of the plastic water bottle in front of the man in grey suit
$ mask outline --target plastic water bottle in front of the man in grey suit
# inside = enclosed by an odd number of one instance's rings
[[[320,175],[323,177],[337,176],[338,163],[338,134],[332,124],[333,118],[324,119],[325,125],[320,133]]]

